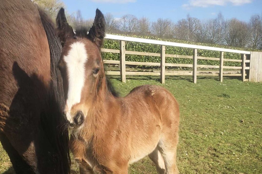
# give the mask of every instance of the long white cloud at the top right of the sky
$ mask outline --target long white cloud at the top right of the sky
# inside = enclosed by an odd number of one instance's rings
[[[253,0],[190,0],[188,4],[183,4],[182,7],[209,7],[212,5],[225,6],[227,4],[243,5],[252,3]]]

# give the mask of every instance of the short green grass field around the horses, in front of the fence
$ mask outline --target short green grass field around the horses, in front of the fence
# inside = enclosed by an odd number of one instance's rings
[[[159,77],[111,80],[122,96],[135,86],[161,85]],[[180,105],[177,162],[180,173],[262,173],[262,84],[238,79],[167,77],[162,85]],[[73,170],[77,170],[73,164]],[[13,173],[0,146],[0,173]],[[6,171],[10,172],[6,172]],[[74,172],[76,173],[76,172]],[[130,174],[156,173],[148,158],[129,167]]]

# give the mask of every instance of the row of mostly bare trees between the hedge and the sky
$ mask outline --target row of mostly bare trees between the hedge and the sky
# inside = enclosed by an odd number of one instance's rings
[[[52,17],[58,9],[56,6],[61,7],[59,0],[33,1],[38,4],[45,2],[46,4],[42,6],[51,13]],[[67,14],[67,19],[73,28],[91,27],[94,20],[84,19],[80,10],[75,14]],[[249,21],[241,21],[236,18],[225,20],[219,13],[215,18],[209,20],[199,20],[188,14],[186,18],[177,22],[163,18],[151,22],[147,17],[137,18],[127,14],[117,19],[111,13],[106,13],[105,21],[107,33],[156,36],[162,39],[176,38],[191,42],[262,49],[262,14],[251,16]]]

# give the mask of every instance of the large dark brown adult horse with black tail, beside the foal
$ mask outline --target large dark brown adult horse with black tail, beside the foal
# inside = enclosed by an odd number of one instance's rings
[[[61,44],[30,0],[0,1],[0,140],[16,173],[69,173]]]

